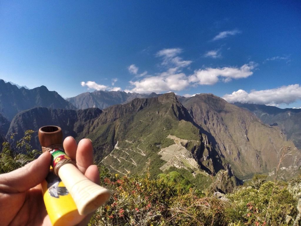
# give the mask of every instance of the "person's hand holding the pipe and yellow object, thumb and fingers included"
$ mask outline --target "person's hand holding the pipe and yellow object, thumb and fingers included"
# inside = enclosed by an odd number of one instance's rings
[[[99,184],[99,171],[93,165],[93,148],[89,139],[79,144],[73,137],[63,143],[66,154],[76,162],[77,168],[85,176]],[[0,226],[6,225],[51,225],[47,214],[40,183],[46,178],[51,162],[49,152],[22,168],[0,174]],[[79,224],[87,225],[92,214]]]

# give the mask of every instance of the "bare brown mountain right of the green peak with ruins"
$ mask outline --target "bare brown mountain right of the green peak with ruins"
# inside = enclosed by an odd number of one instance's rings
[[[199,94],[185,99],[183,105],[203,133],[214,137],[213,146],[230,162],[234,174],[243,178],[254,173],[273,171],[277,153],[283,145],[292,147],[285,167],[300,166],[300,152],[287,141],[278,127],[263,124],[250,111],[229,104],[213,94]]]

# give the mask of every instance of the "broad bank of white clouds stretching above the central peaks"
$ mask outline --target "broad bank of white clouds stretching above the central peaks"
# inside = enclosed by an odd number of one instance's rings
[[[253,74],[256,63],[250,62],[241,67],[205,68],[195,70],[193,74],[186,75],[183,70],[188,68],[192,61],[185,61],[178,56],[182,49],[163,49],[157,52],[157,57],[162,57],[164,71],[155,75],[147,75],[147,71],[138,74],[138,67],[132,64],[128,67],[130,73],[135,74],[129,81],[130,87],[125,92],[137,93],[166,93],[188,89],[197,85],[213,85],[217,82],[229,82],[232,79],[246,78]],[[112,86],[117,79],[112,79]],[[120,87],[109,87],[92,81],[82,82],[82,86],[96,90],[121,90]]]

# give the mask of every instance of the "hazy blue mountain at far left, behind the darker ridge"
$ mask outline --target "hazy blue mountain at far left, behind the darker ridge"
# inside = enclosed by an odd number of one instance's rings
[[[34,107],[76,109],[57,92],[49,91],[45,86],[19,89],[0,79],[0,111],[5,118],[11,121],[18,112]]]

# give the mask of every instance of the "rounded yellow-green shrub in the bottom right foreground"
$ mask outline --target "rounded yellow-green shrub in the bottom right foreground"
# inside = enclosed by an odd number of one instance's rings
[[[241,187],[228,198],[233,202],[232,209],[242,217],[240,220],[248,225],[256,222],[262,225],[292,225],[292,219],[296,218],[296,199],[286,187],[281,188],[271,181],[262,183],[258,190],[251,186]]]

